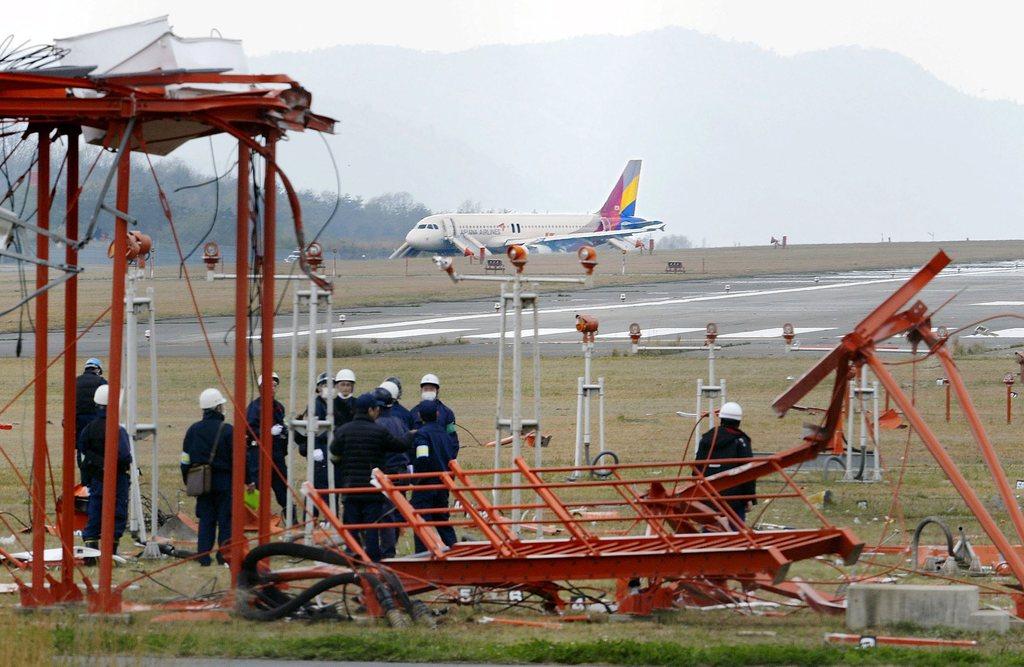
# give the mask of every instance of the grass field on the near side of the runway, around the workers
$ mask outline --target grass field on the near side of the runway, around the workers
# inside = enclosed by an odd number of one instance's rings
[[[813,357],[791,356],[783,359],[749,359],[723,353],[719,372],[729,381],[730,398],[743,404],[743,426],[754,439],[758,451],[779,451],[799,442],[801,423],[808,419],[792,414],[784,419],[773,417],[772,399],[814,361]],[[433,358],[429,349],[415,355],[371,355],[347,360],[360,377],[359,388],[369,388],[390,374],[397,374],[409,385],[425,372],[437,372],[444,385],[442,398],[459,416],[459,422],[480,441],[493,436],[494,365],[489,359]],[[221,372],[230,373],[230,363],[221,360]],[[1020,448],[1019,422],[1005,423],[1004,373],[1014,370],[1010,359],[979,358],[970,355],[959,360],[975,404],[981,411],[989,433],[996,444],[1002,464],[1013,481],[1024,478],[1024,451]],[[544,430],[553,435],[551,447],[544,451],[545,463],[564,465],[571,461],[574,427],[574,378],[582,363],[573,359],[544,361]],[[280,367],[284,367],[282,360]],[[915,372],[914,372],[915,369]],[[946,448],[962,466],[967,477],[979,489],[981,497],[995,513],[1006,532],[1008,515],[997,507],[995,489],[983,466],[977,447],[970,439],[963,420],[943,421],[943,389],[935,384],[940,370],[932,361],[916,367],[895,367],[907,391],[915,392],[918,404],[928,416]],[[607,442],[624,462],[676,460],[682,456],[692,428],[692,421],[675,415],[677,410],[692,410],[693,383],[705,374],[705,363],[693,357],[600,357],[594,372],[608,378]],[[180,507],[191,511],[191,502],[181,492],[177,458],[186,426],[198,418],[197,397],[206,386],[217,384],[212,365],[196,360],[166,360],[160,364],[161,381],[161,484],[167,509]],[[31,360],[0,360],[0,398],[8,399],[29,380]],[[50,386],[51,451],[59,448],[58,377],[52,373]],[[144,382],[143,382],[144,385]],[[528,389],[528,386],[527,386]],[[413,391],[407,387],[407,390]],[[287,395],[282,387],[281,395]],[[0,446],[19,470],[31,467],[31,392],[0,415],[0,421],[15,422],[11,431],[3,431]],[[804,405],[823,405],[824,391],[816,392]],[[4,401],[6,402],[6,401]],[[407,401],[409,403],[410,401]],[[144,400],[142,404],[145,405]],[[143,413],[144,414],[144,413]],[[1018,419],[1024,412],[1018,407]],[[467,468],[489,467],[493,450],[477,446],[468,433],[461,434],[464,449],[460,461]],[[144,446],[145,447],[145,446]],[[143,472],[148,474],[148,454],[143,447]],[[826,483],[820,473],[801,473],[798,483],[807,494],[829,489],[835,504],[823,509],[834,524],[851,528],[862,540],[876,543],[886,533],[897,532],[889,544],[905,542],[904,530],[922,517],[938,515],[952,526],[964,526],[976,543],[986,543],[977,522],[967,511],[952,487],[945,481],[920,442],[908,440],[906,430],[887,431],[883,440],[886,482],[876,485]],[[904,449],[908,452],[904,480],[899,493],[898,511],[892,511],[892,483],[903,467]],[[690,447],[692,452],[692,447]],[[10,515],[28,518],[27,493],[10,468],[0,470],[0,510],[6,520]],[[858,506],[858,501],[865,505]],[[866,508],[865,508],[866,507]],[[887,517],[892,516],[892,520]],[[761,520],[787,526],[812,526],[806,508],[795,503],[770,506]],[[16,525],[16,523],[14,523]],[[0,535],[6,534],[4,530]],[[127,545],[127,542],[125,542]],[[5,548],[12,548],[5,545]],[[24,547],[17,547],[24,548]],[[402,544],[401,549],[409,549]],[[895,560],[884,565],[898,565]],[[115,572],[116,581],[124,581],[153,566],[132,562]],[[858,577],[878,572],[861,564],[848,569]],[[88,572],[88,570],[87,570]],[[828,565],[804,562],[791,570],[791,576],[821,582],[834,590],[842,579]],[[90,576],[92,573],[90,572]],[[912,580],[907,578],[905,580]],[[0,581],[9,581],[4,575]],[[1004,581],[1004,580],[995,580]],[[159,582],[159,583],[158,583]],[[829,584],[828,582],[834,582]],[[993,583],[991,578],[977,580]],[[225,570],[199,568],[185,564],[143,579],[139,587],[127,593],[133,601],[157,602],[222,590],[227,585]],[[610,583],[602,584],[607,589]],[[170,589],[170,590],[169,590]],[[172,592],[175,591],[175,592]],[[984,601],[1006,607],[1005,596],[985,597]],[[590,624],[571,624],[553,629],[510,628],[479,625],[482,615],[495,614],[485,606],[460,608],[450,615],[442,628],[433,633],[424,630],[392,630],[352,624],[255,624],[242,620],[229,622],[162,623],[147,619],[154,613],[133,615],[130,625],[82,621],[77,612],[53,615],[23,615],[13,609],[13,595],[0,600],[0,622],[10,664],[49,662],[56,654],[181,655],[288,657],[318,659],[378,659],[419,661],[511,661],[511,662],[607,662],[613,664],[949,664],[1022,661],[1018,652],[1024,641],[1014,634],[1006,637],[982,636],[982,645],[973,651],[878,651],[825,648],[822,634],[842,631],[842,619],[801,611],[781,617],[743,616],[735,612],[680,611],[654,619],[632,623],[603,622],[600,615]],[[511,614],[536,618],[526,611]],[[507,615],[507,614],[505,614]],[[739,633],[746,634],[739,634]],[[896,629],[892,634],[926,634],[914,628]],[[935,636],[961,636],[962,633],[932,631]],[[971,635],[975,636],[975,635]],[[8,662],[8,660],[0,661]]]

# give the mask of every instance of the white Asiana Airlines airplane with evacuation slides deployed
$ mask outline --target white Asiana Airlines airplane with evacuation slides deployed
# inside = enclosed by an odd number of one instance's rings
[[[636,216],[640,160],[630,160],[608,200],[597,213],[438,213],[428,215],[406,235],[390,259],[421,252],[482,256],[504,253],[510,245],[532,252],[571,252],[607,243],[623,252],[641,247],[638,234],[664,232],[665,222]]]

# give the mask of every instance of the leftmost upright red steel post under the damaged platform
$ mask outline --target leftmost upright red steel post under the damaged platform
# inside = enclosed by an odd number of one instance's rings
[[[36,168],[36,224],[40,230],[50,228],[50,128],[40,128],[39,162]],[[50,239],[45,234],[36,235],[36,256],[43,261],[50,258]],[[46,286],[49,269],[46,264],[36,265],[36,289]],[[49,292],[36,297],[36,349],[33,392],[34,421],[32,429],[32,594],[31,605],[47,601],[46,564],[46,469],[48,447],[46,444],[46,333],[49,328]],[[29,600],[26,600],[29,601]]]

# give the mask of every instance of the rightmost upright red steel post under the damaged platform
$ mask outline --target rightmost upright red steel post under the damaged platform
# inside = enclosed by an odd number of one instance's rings
[[[260,369],[263,384],[260,387],[260,429],[259,429],[259,543],[270,539],[270,456],[273,443],[270,424],[273,423],[273,254],[276,233],[278,179],[275,168],[276,136],[266,135],[266,156],[263,180],[263,285],[260,302]],[[330,341],[328,342],[330,344]],[[309,350],[314,355],[315,350]]]

